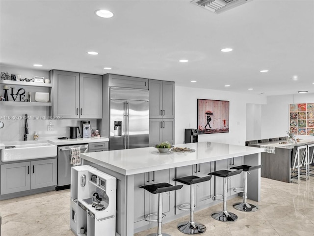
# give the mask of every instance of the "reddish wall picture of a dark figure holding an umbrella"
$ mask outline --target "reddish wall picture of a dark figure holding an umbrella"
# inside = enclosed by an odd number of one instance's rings
[[[229,101],[197,99],[198,134],[229,132]]]

